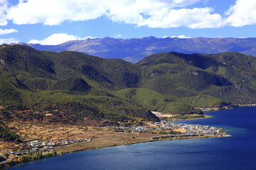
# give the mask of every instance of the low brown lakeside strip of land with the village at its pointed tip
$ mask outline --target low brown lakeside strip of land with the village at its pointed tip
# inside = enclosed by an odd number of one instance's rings
[[[19,155],[13,157],[8,162],[0,164],[1,168],[14,166],[23,162],[30,162],[43,157],[50,157],[70,152],[78,152],[88,149],[99,149],[103,147],[114,147],[119,145],[132,145],[143,142],[153,142],[159,140],[177,140],[177,139],[191,139],[204,137],[229,137],[221,128],[214,128],[203,125],[186,125],[181,123],[170,123],[161,121],[161,123],[151,123],[144,126],[130,126],[130,127],[105,127],[105,128],[90,128],[93,132],[93,138],[81,142],[68,143],[68,145],[56,145],[53,149],[48,149],[43,152],[43,142],[29,142],[28,145],[38,143],[39,153],[33,155]],[[72,130],[70,130],[72,132]],[[87,132],[90,134],[90,132]],[[97,134],[97,135],[96,135]],[[73,135],[71,135],[73,136]],[[66,140],[71,141],[71,140]],[[73,140],[74,141],[74,140]],[[40,143],[40,145],[39,145]],[[42,149],[40,149],[40,147]],[[31,148],[33,150],[33,148]],[[21,159],[22,158],[22,159]]]

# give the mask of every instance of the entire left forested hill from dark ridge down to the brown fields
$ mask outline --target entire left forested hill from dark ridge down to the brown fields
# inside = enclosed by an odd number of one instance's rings
[[[49,122],[45,113],[55,110],[64,114],[59,117],[65,123],[84,118],[112,123],[136,118],[159,120],[136,103],[109,93],[138,85],[140,70],[134,64],[22,45],[2,45],[0,54],[0,106],[7,110],[37,111],[40,116],[31,113],[30,118],[43,122]]]

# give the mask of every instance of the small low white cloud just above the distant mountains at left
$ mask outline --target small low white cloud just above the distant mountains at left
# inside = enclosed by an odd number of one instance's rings
[[[90,36],[86,38],[80,38],[77,35],[68,35],[67,33],[56,33],[50,35],[48,38],[44,40],[30,40],[29,44],[41,44],[41,45],[59,45],[63,42],[67,42],[70,40],[85,40],[87,38],[91,38]]]

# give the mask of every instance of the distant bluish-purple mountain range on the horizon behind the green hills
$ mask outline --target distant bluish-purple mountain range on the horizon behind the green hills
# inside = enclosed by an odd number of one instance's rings
[[[28,46],[36,50],[53,52],[78,51],[98,57],[119,58],[133,63],[158,52],[184,54],[240,52],[256,56],[256,38],[87,38],[86,40],[68,41],[60,45],[28,44]]]

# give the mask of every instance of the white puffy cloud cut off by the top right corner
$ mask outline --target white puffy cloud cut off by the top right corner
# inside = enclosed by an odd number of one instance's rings
[[[256,1],[237,0],[234,6],[225,13],[225,25],[241,27],[256,23]]]

